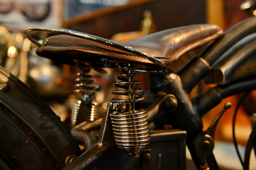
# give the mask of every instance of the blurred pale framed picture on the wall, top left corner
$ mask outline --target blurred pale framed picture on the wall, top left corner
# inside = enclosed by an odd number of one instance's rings
[[[24,30],[31,26],[60,27],[62,0],[0,0],[0,24]]]

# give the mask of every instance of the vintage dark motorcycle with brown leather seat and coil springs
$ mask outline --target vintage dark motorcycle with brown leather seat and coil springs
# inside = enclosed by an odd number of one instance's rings
[[[228,96],[256,88],[256,18],[225,33],[213,24],[171,28],[127,42],[60,28],[35,27],[24,35],[39,56],[79,69],[73,128],[14,75],[1,67],[1,169],[186,169],[187,146],[197,169],[219,169],[214,132],[223,111],[203,131],[201,118]],[[190,50],[207,46],[174,72],[170,65]],[[97,113],[98,86],[87,73],[119,68],[119,81],[105,111]],[[143,74],[149,90],[142,91]],[[202,79],[215,84],[195,98]],[[110,93],[110,92],[107,92]],[[86,118],[79,124],[78,114]],[[252,129],[244,169],[255,144]]]

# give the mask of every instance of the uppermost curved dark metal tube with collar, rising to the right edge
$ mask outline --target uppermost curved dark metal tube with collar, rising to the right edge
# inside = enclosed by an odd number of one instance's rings
[[[215,64],[216,61],[218,61],[220,56],[228,51],[230,47],[235,45],[236,42],[238,42],[245,36],[254,33],[256,30],[255,22],[256,17],[247,18],[247,20],[242,21],[235,25],[233,28],[228,29],[227,31],[225,31],[223,36],[215,40],[209,47],[207,47],[206,50],[204,50],[199,55],[199,57],[191,60],[181,70],[179,70],[177,74],[181,77],[184,90],[190,92],[191,89],[193,89],[193,87],[198,84],[198,81],[208,75],[208,73],[210,72],[210,68],[213,66],[213,64]],[[233,60],[228,61],[233,62]],[[239,62],[237,62],[237,64],[239,64]],[[232,67],[233,64],[228,64],[228,66]],[[237,70],[239,74],[241,70]],[[244,72],[246,72],[246,69],[244,69]],[[210,76],[208,78],[209,83],[220,82],[220,77],[218,76],[219,75],[215,75],[215,77]],[[234,78],[232,77],[232,79],[230,80],[233,79]],[[223,83],[223,81],[221,82]],[[225,83],[227,82],[225,81]]]

